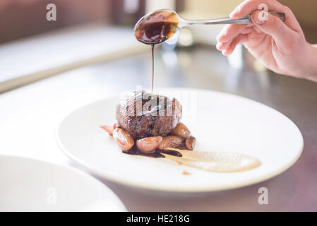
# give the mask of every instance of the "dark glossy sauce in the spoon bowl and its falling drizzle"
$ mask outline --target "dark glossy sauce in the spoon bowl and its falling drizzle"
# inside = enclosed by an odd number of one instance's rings
[[[179,25],[178,16],[172,11],[155,11],[143,16],[134,27],[136,39],[152,48],[152,94],[154,89],[154,47],[172,37]]]

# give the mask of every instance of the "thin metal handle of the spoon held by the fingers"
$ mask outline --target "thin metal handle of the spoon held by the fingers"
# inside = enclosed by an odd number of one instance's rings
[[[270,14],[277,16],[282,21],[285,21],[285,13],[270,11]],[[210,20],[185,20],[187,25],[208,25],[208,24],[250,24],[252,23],[250,15],[240,19],[232,19],[229,17],[210,19]]]

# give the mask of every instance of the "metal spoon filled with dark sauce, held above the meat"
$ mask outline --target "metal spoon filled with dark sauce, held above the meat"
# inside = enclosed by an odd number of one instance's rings
[[[275,11],[269,12],[285,21],[285,13]],[[240,19],[217,18],[208,20],[185,20],[181,18],[175,11],[169,9],[161,9],[148,13],[138,20],[134,27],[136,39],[145,44],[159,44],[165,42],[179,28],[187,25],[213,25],[213,24],[251,24],[250,15]]]

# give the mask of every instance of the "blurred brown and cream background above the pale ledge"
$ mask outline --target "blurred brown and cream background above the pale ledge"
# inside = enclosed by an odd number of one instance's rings
[[[292,8],[307,40],[317,42],[317,1],[280,2]],[[45,20],[49,3],[58,11],[54,23]],[[239,3],[241,0],[1,0],[0,43],[82,23],[133,26],[144,13],[157,8],[172,8],[189,19],[225,17]]]

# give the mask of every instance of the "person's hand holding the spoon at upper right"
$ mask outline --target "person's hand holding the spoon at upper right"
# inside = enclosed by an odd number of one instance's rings
[[[285,13],[285,22],[270,13],[268,20],[261,20],[260,4],[266,4],[268,11]],[[316,65],[313,66],[316,62],[310,60],[316,59],[317,49],[306,42],[291,9],[276,0],[246,0],[230,13],[230,17],[238,19],[249,14],[253,24],[226,25],[217,36],[217,49],[222,54],[232,54],[237,44],[242,43],[256,59],[276,73],[307,78],[317,72]]]

